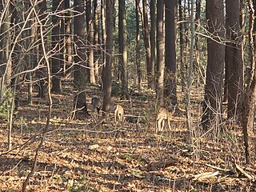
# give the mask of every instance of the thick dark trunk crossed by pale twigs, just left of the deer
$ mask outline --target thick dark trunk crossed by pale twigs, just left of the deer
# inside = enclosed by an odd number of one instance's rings
[[[74,88],[78,94],[74,96],[75,109],[81,109],[85,114],[88,114],[86,105],[86,84],[88,82],[89,71],[86,68],[86,50],[85,50],[85,1],[75,0],[74,10],[78,14],[74,15],[74,43],[77,53],[74,56]]]

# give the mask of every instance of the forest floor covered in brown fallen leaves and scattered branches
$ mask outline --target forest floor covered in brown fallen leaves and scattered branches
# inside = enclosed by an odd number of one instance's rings
[[[91,117],[70,119],[73,93],[52,94],[50,130],[38,154],[28,191],[255,191],[255,145],[251,165],[246,166],[242,129],[226,125],[223,133],[202,131],[202,90],[193,89],[193,127],[186,128],[184,112],[175,114],[172,130],[155,134],[155,95],[133,94],[130,100],[113,97],[108,120],[91,111],[90,99],[98,90],[90,86],[87,94]],[[26,103],[20,94],[18,113],[12,132],[13,150],[6,153],[8,129],[0,130],[0,189],[21,191],[34,162],[40,131],[46,126],[49,101],[33,98]],[[178,92],[179,108],[185,102]],[[114,104],[122,103],[126,116],[142,116],[142,122],[113,122]],[[127,117],[126,117],[127,119]],[[37,135],[37,137],[35,137]],[[192,142],[189,141],[192,136]],[[250,143],[255,143],[250,133]]]

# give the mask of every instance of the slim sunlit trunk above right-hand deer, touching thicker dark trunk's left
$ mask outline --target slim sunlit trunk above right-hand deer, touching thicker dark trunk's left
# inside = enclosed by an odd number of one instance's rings
[[[157,98],[158,104],[163,106],[164,93],[164,37],[163,37],[163,0],[157,2]]]

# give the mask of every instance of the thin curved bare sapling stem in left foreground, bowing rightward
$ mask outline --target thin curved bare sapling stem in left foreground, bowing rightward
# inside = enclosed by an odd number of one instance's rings
[[[42,50],[43,50],[44,58],[46,59],[46,66],[47,66],[48,98],[49,98],[50,104],[49,104],[49,107],[48,107],[48,116],[47,116],[46,126],[45,126],[45,129],[42,130],[42,138],[40,140],[40,143],[39,143],[38,148],[36,150],[36,153],[34,155],[34,163],[31,166],[30,174],[27,175],[25,182],[23,182],[23,184],[22,184],[22,192],[26,191],[26,186],[29,183],[30,178],[34,175],[34,171],[35,171],[35,168],[36,168],[37,162],[38,162],[38,153],[39,153],[39,150],[41,150],[41,148],[42,148],[42,144],[43,144],[43,141],[44,141],[45,134],[46,134],[46,132],[47,132],[47,130],[49,128],[49,125],[50,125],[50,114],[51,114],[51,107],[52,107],[52,104],[53,104],[53,101],[52,101],[52,98],[51,98],[51,92],[50,92],[50,84],[51,84],[50,62],[49,62],[48,57],[46,55],[46,47],[45,47],[44,39],[43,39],[42,22],[38,18],[38,14],[37,14],[36,10],[34,9],[34,6],[33,6],[32,9],[34,10],[34,14],[36,16],[36,19],[37,19],[39,25],[40,25],[40,36],[41,36],[41,42],[42,42]]]

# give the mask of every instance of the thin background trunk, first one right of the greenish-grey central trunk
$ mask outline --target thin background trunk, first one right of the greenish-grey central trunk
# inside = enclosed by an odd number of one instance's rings
[[[140,0],[135,1],[135,13],[136,13],[136,69],[137,69],[137,86],[138,86],[138,92],[141,92],[141,87],[142,87],[142,70],[141,70],[141,54],[140,54],[140,39],[141,39],[141,34],[139,31],[139,22],[140,22]]]

